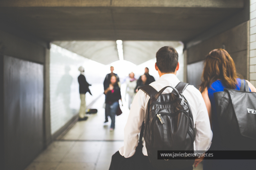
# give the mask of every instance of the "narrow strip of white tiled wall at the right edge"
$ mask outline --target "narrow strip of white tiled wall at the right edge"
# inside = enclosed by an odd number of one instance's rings
[[[250,82],[256,86],[256,0],[250,0]]]

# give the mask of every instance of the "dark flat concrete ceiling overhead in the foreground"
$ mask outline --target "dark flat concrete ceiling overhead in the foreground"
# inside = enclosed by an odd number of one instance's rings
[[[243,0],[1,0],[0,20],[45,41],[188,41]]]

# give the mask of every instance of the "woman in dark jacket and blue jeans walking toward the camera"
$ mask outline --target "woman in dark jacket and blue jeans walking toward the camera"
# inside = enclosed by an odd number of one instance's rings
[[[104,94],[106,95],[105,112],[107,116],[110,116],[110,131],[113,131],[115,129],[115,114],[119,107],[119,99],[121,99],[121,91],[115,75],[111,76],[109,87],[104,91]]]

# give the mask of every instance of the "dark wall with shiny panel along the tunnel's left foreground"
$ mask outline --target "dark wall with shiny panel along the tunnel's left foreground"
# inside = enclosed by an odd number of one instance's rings
[[[0,119],[1,169],[18,170],[46,147],[46,138],[51,141],[45,127],[50,119],[45,117],[44,109],[44,63],[49,49],[47,42],[37,41],[5,23],[0,25],[1,101],[4,101]]]

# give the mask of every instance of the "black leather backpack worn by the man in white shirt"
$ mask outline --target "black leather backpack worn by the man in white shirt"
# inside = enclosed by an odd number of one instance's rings
[[[150,163],[156,169],[185,168],[194,161],[158,159],[158,150],[194,150],[195,131],[193,116],[182,92],[187,83],[180,82],[175,88],[166,86],[157,92],[152,86],[139,87],[150,96],[147,104],[144,128],[144,140]],[[162,94],[167,88],[172,93]]]

